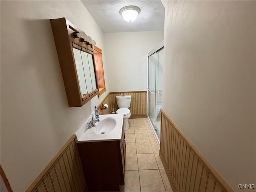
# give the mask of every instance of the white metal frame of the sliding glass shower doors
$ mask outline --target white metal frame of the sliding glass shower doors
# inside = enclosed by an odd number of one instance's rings
[[[162,48],[164,48],[164,41],[162,41],[160,44],[158,44],[153,50],[151,50],[149,53],[148,53],[148,58],[149,56],[151,56],[152,54],[158,52],[158,50],[161,50]],[[148,91],[148,94],[147,94],[147,98],[148,98],[148,102],[150,101],[150,98],[149,98],[149,92],[152,93],[152,90],[150,90],[150,87],[149,87],[149,59],[148,59],[148,64],[147,64],[147,80],[148,80],[148,84],[147,84],[147,91]],[[155,78],[156,78],[156,74],[155,74]],[[154,90],[156,91],[156,90]],[[153,92],[154,93],[154,92]],[[155,93],[156,94],[156,93]],[[156,97],[156,96],[155,96]],[[148,103],[147,103],[148,105]],[[156,105],[156,98],[155,98],[155,105]],[[156,142],[158,144],[158,146],[160,147],[160,136],[158,137],[156,131],[155,131],[155,127],[154,125],[152,124],[151,120],[150,120],[150,117],[149,117],[149,107],[148,107],[148,112],[147,112],[147,116],[148,116],[148,121],[149,121],[149,124],[150,124],[150,127],[152,129],[152,132],[154,134],[154,137],[156,138]],[[155,110],[155,109],[154,109]]]

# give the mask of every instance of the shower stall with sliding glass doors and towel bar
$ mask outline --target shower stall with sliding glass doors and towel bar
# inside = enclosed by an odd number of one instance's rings
[[[148,120],[158,145],[162,108],[164,42],[148,53]]]

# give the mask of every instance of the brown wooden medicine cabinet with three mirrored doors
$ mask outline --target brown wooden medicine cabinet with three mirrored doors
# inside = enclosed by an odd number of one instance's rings
[[[93,48],[75,34],[81,32],[65,18],[50,19],[70,107],[81,107],[99,94]]]

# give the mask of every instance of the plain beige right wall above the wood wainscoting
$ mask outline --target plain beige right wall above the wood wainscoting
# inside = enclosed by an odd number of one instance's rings
[[[256,184],[256,2],[164,6],[163,110],[234,191]]]

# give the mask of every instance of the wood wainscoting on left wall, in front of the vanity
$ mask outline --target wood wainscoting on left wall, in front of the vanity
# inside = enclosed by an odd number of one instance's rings
[[[87,191],[75,138],[68,140],[26,192]]]

